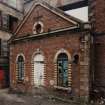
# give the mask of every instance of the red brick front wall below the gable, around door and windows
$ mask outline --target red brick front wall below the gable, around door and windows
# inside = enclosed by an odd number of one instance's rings
[[[23,53],[25,56],[25,71],[26,75],[30,78],[31,81],[31,72],[32,72],[32,55],[34,52],[40,48],[44,52],[45,56],[45,85],[46,87],[50,86],[49,81],[54,79],[54,57],[56,53],[64,48],[67,50],[71,56],[74,54],[80,53],[80,34],[71,34],[71,33],[61,33],[62,36],[53,36],[46,37],[33,41],[18,42],[11,46],[11,57],[10,57],[10,70],[11,70],[11,79],[16,81],[16,57],[18,54]],[[66,36],[66,37],[65,37]],[[80,84],[80,70],[79,66],[72,64],[72,87],[74,93],[79,95],[79,84]],[[12,81],[13,81],[12,80]]]

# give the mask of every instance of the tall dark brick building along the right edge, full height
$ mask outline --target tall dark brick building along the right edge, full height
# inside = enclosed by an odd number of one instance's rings
[[[105,13],[103,0],[89,0],[89,21],[93,37],[92,90],[105,96]]]

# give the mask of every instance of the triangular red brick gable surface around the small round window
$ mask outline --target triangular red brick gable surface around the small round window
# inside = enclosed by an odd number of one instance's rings
[[[17,37],[25,34],[32,34],[33,25],[38,21],[38,16],[41,16],[39,20],[43,22],[44,32],[48,32],[49,29],[56,30],[59,28],[73,26],[73,23],[62,19],[58,15],[52,13],[50,10],[39,5],[34,8],[28,19],[22,25],[21,29],[17,32]]]

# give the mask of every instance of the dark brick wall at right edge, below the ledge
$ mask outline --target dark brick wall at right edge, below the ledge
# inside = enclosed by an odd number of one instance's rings
[[[105,36],[95,38],[95,84],[105,88]],[[104,89],[105,90],[105,89]]]

